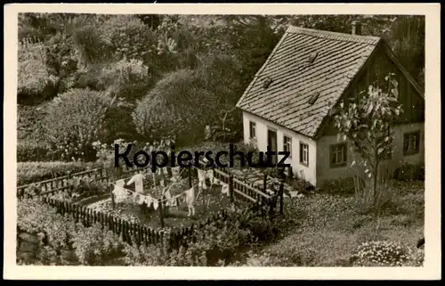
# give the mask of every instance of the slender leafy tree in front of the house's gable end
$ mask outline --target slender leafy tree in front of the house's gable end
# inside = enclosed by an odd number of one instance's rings
[[[352,141],[353,151],[360,156],[365,175],[372,178],[372,188],[367,190],[372,192],[372,208],[377,208],[380,202],[379,164],[392,151],[390,128],[402,111],[397,102],[397,81],[392,74],[384,79],[387,86],[369,86],[368,92],[360,93],[358,103],[355,99],[347,105],[340,102],[334,117],[339,136]],[[354,160],[352,166],[355,164]]]

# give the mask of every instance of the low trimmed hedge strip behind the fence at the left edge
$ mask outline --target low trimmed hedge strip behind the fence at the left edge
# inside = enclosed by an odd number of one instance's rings
[[[101,165],[83,162],[19,162],[17,164],[17,185],[36,183],[98,167]]]

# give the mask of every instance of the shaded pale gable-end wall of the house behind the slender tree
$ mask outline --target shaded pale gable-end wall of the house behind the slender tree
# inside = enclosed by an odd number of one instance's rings
[[[420,146],[419,152],[414,155],[403,155],[403,135],[409,132],[420,131]],[[425,128],[424,123],[412,123],[392,127],[394,141],[392,143],[392,159],[384,160],[382,167],[388,168],[392,171],[400,168],[403,164],[418,164],[425,162]],[[351,151],[351,143],[348,143],[347,160],[348,164],[344,168],[330,168],[329,165],[329,146],[340,143],[337,141],[336,135],[323,136],[317,141],[317,182],[320,184],[323,181],[335,180],[352,176],[351,163],[353,159],[357,159],[358,155]]]

